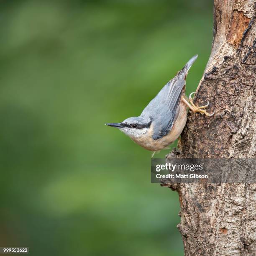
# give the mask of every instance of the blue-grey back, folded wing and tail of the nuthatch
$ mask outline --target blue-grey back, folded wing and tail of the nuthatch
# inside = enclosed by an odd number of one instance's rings
[[[193,56],[184,68],[149,102],[141,113],[142,117],[154,120],[153,138],[155,140],[164,137],[172,129],[179,113],[179,102],[186,84],[187,72],[196,59],[197,55]]]

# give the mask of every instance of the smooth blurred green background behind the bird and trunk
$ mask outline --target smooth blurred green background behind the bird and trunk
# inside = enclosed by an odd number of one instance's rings
[[[140,115],[198,54],[195,91],[211,41],[210,0],[0,0],[0,246],[183,255],[177,193],[104,123]]]

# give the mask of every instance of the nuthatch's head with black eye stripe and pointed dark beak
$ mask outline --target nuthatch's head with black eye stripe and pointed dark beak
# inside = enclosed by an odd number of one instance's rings
[[[127,118],[122,123],[106,123],[106,125],[118,128],[131,138],[140,138],[149,131],[151,122],[151,118],[138,116]]]

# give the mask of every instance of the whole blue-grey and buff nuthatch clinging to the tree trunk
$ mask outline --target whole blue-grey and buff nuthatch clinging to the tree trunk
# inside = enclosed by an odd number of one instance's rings
[[[116,127],[128,135],[135,143],[150,151],[159,151],[175,141],[187,121],[187,107],[193,112],[212,116],[205,111],[205,106],[197,107],[191,95],[189,102],[185,96],[187,72],[197,59],[193,56],[184,68],[170,80],[151,102],[144,108],[141,115],[125,119],[122,123],[106,123]],[[154,153],[153,153],[154,154]]]

